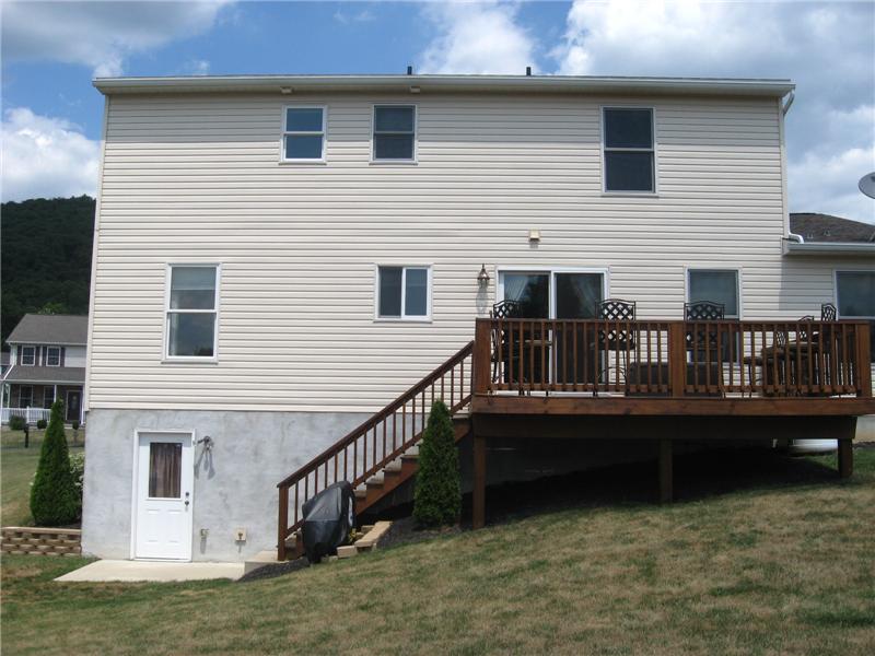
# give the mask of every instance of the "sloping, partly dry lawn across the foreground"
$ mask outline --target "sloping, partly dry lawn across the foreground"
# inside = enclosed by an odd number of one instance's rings
[[[875,449],[808,479],[529,516],[245,584],[3,559],[15,654],[872,654]],[[830,470],[826,468],[829,467]]]

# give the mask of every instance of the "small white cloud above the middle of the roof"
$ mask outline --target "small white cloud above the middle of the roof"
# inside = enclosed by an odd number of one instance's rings
[[[423,73],[523,73],[535,68],[535,42],[516,23],[515,4],[430,4],[424,15],[438,28],[421,56]]]

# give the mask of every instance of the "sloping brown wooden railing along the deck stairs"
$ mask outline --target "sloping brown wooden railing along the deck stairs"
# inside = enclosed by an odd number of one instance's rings
[[[472,352],[474,342],[468,342],[383,410],[277,484],[280,560],[285,559],[285,539],[303,524],[304,502],[336,482],[349,481],[354,488],[382,471],[420,440],[435,400],[442,399],[451,414],[470,403]]]

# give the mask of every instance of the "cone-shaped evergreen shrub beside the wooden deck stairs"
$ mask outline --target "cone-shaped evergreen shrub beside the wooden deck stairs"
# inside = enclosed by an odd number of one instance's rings
[[[455,524],[462,513],[458,450],[453,421],[443,401],[434,401],[419,446],[413,518],[420,526]]]

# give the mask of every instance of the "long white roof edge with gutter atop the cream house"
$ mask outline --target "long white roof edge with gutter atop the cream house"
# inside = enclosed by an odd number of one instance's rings
[[[555,92],[754,95],[783,97],[795,84],[783,79],[638,78],[580,75],[186,75],[96,78],[106,95],[119,93],[221,93],[296,91]]]

